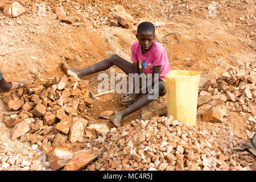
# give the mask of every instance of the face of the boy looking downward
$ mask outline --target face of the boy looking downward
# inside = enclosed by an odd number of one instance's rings
[[[155,34],[152,31],[141,31],[139,34],[136,34],[136,37],[139,40],[139,45],[141,45],[142,52],[147,52],[153,44]]]

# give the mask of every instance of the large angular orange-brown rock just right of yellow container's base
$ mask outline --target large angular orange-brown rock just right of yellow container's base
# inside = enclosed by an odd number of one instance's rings
[[[223,119],[223,110],[221,109],[210,109],[209,111],[203,113],[203,121],[206,122],[218,122],[221,123]]]

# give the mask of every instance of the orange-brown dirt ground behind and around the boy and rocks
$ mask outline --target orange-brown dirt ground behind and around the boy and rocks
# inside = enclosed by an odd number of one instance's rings
[[[171,70],[196,70],[201,77],[216,78],[230,67],[246,68],[246,64],[256,64],[255,1],[216,1],[216,17],[208,15],[208,5],[212,1],[47,0],[45,16],[38,15],[40,1],[18,2],[25,7],[26,13],[16,18],[7,18],[0,9],[0,63],[7,81],[63,76],[61,63],[64,60],[75,69],[88,67],[113,54],[130,61],[131,44],[137,41],[136,27],[109,26],[108,20],[113,17],[116,5],[125,7],[136,20],[163,23],[156,27],[156,40],[166,48]],[[52,12],[56,5],[63,6],[68,15],[88,18],[93,29],[86,30],[56,19]],[[115,68],[115,73],[120,72]],[[110,74],[109,70],[104,73]],[[97,80],[98,74],[82,77],[82,80],[89,80],[93,93],[97,93],[97,85],[101,82]],[[109,121],[98,119],[98,115],[105,110],[123,110],[118,103],[120,96],[106,94],[100,100],[94,100],[93,109],[88,108],[89,117],[95,123],[114,127]],[[166,96],[160,101],[166,101]],[[0,105],[2,121],[5,105],[3,102]],[[122,126],[140,114],[141,110],[138,110],[124,118]],[[215,131],[218,143],[236,147],[247,140],[246,121],[252,115],[238,112],[227,115],[221,124],[206,123],[198,118],[197,127],[209,133]],[[1,134],[10,132],[4,123],[0,126]],[[7,138],[2,143],[11,146],[14,142],[10,135]],[[30,146],[29,143],[23,145]],[[250,168],[256,169],[255,161]]]

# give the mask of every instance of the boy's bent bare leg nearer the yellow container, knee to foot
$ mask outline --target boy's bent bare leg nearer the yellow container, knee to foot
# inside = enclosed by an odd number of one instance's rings
[[[166,83],[159,80],[159,96],[162,96],[165,93],[166,93]],[[150,104],[150,102],[154,101],[154,100],[148,99],[148,96],[150,95],[152,95],[152,93],[145,94],[142,98],[134,102],[134,104],[130,105],[127,109],[110,117],[109,120],[115,125],[115,127],[121,127],[121,120],[124,117],[126,117],[126,115],[134,113],[135,111],[141,109],[144,106],[147,106],[148,104]]]

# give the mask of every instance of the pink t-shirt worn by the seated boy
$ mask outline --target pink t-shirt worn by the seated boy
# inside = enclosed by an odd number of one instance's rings
[[[140,63],[142,71],[146,75],[152,76],[153,67],[162,65],[160,69],[159,78],[166,78],[166,74],[170,72],[170,64],[168,61],[166,49],[155,40],[151,48],[144,54],[141,52],[141,45],[139,42],[131,45],[131,61]]]

